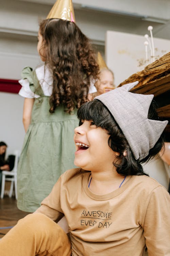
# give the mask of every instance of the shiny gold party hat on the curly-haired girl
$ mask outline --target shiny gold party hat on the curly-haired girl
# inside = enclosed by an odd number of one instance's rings
[[[46,19],[67,19],[75,22],[72,0],[57,0]]]

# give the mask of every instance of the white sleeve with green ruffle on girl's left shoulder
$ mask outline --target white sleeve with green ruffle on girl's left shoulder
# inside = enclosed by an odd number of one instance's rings
[[[19,91],[19,95],[30,99],[38,98],[39,96],[36,95],[30,88],[30,86],[34,84],[32,68],[24,68],[21,73],[21,78],[22,79],[18,81],[22,85],[22,88]]]

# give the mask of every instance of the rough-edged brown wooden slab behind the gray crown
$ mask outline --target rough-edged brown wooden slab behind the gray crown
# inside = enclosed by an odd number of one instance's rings
[[[131,75],[123,81],[123,84],[139,81],[139,84],[131,89],[140,94],[153,94],[158,106],[158,116],[170,120],[170,52],[149,64],[144,70]],[[119,87],[118,86],[118,87]],[[165,96],[166,95],[166,96]],[[166,141],[170,142],[170,122],[165,128]]]

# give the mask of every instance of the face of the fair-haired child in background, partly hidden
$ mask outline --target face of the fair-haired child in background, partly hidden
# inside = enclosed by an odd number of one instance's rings
[[[109,70],[103,70],[99,74],[99,80],[95,84],[98,94],[106,93],[107,89],[104,90],[105,87],[114,87],[114,78],[113,74]]]

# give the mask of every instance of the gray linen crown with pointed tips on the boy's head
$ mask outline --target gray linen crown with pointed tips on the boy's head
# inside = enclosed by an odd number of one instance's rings
[[[125,84],[108,93],[97,96],[111,112],[126,140],[135,159],[143,159],[158,141],[168,121],[148,119],[148,110],[154,95],[131,93],[138,81]]]

